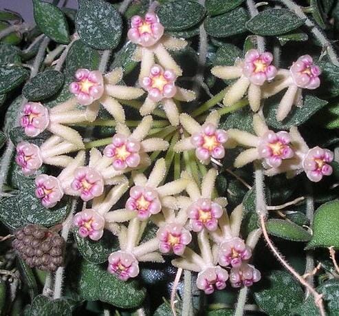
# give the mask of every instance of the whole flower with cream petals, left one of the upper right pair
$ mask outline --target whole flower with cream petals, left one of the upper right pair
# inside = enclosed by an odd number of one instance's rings
[[[248,92],[248,101],[252,111],[258,111],[261,103],[261,86],[266,81],[272,81],[277,74],[272,65],[273,56],[270,52],[259,53],[249,50],[243,61],[237,61],[234,66],[216,66],[211,72],[222,79],[239,78],[225,94],[223,104],[233,105]]]

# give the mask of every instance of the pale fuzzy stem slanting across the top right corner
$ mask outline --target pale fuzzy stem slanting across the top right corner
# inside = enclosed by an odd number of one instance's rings
[[[287,8],[289,8],[289,10],[293,11],[297,17],[300,17],[300,19],[304,20],[305,25],[311,29],[311,32],[314,35],[314,37],[318,39],[318,41],[324,48],[327,49],[329,59],[331,59],[331,62],[334,65],[339,66],[338,56],[333,46],[331,45],[330,41],[327,39],[325,34],[323,34],[322,31],[320,31],[318,26],[307,17],[307,15],[303,12],[303,9],[300,8],[300,6],[298,6],[292,0],[279,0],[279,1],[281,1],[281,3],[283,3]]]

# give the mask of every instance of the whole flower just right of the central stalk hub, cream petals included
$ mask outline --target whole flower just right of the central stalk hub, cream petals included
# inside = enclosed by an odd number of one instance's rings
[[[180,114],[180,123],[191,135],[183,138],[175,145],[175,151],[195,149],[195,155],[201,163],[208,164],[211,158],[221,159],[225,156],[225,145],[228,135],[223,129],[218,129],[220,116],[217,111],[211,112],[204,125],[188,114]]]

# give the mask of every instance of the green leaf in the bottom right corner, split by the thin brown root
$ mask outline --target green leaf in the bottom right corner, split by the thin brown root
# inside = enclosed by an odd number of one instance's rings
[[[339,282],[338,280],[329,280],[316,288],[319,294],[322,294],[327,316],[337,316],[339,310]],[[319,308],[314,304],[314,297],[309,295],[304,304],[294,310],[294,315],[312,315],[318,316]]]

